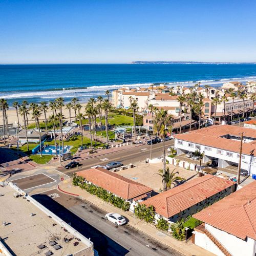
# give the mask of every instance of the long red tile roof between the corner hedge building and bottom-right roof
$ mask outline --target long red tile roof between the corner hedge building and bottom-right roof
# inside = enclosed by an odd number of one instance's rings
[[[141,204],[153,205],[157,214],[170,218],[233,184],[235,184],[233,181],[207,174],[164,191]]]

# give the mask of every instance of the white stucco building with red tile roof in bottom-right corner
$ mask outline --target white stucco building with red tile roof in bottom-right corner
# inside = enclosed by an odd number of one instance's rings
[[[256,253],[256,181],[244,186],[193,217],[193,243],[218,255],[254,256]]]

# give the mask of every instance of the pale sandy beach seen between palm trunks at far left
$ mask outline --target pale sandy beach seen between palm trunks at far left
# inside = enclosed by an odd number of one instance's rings
[[[80,104],[82,105],[81,113],[84,113],[84,108],[86,106],[86,103],[80,103]],[[8,122],[9,122],[9,124],[15,123],[15,122],[18,121],[15,109],[9,109],[7,112],[8,112],[7,115],[8,115]],[[62,114],[63,114],[65,119],[69,118],[69,110],[66,109],[65,106],[62,108]],[[52,115],[52,111],[48,110],[47,114],[46,114],[47,118],[50,115]],[[74,119],[74,117],[75,117],[75,111],[73,109],[71,109],[71,119]],[[35,122],[34,119],[32,120],[32,116],[31,115],[28,115],[28,119],[29,119],[29,123],[34,123]],[[40,120],[41,121],[45,120],[44,113],[42,113]],[[23,125],[23,117],[20,116],[20,115],[19,115],[19,122]],[[0,111],[0,125],[1,124],[3,125],[3,112],[2,111]]]

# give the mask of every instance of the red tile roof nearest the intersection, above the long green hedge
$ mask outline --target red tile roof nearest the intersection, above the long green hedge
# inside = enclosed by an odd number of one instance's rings
[[[100,167],[82,170],[76,174],[125,200],[139,197],[153,190],[150,187]]]

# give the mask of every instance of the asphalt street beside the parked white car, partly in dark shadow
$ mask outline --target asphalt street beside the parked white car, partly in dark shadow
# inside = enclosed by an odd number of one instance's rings
[[[47,195],[57,193],[59,197]],[[50,190],[33,196],[42,205],[81,232],[91,238],[99,255],[181,255],[175,250],[148,237],[129,224],[115,227],[106,221],[105,211],[97,208],[86,200]],[[165,236],[159,232],[159,238]]]

